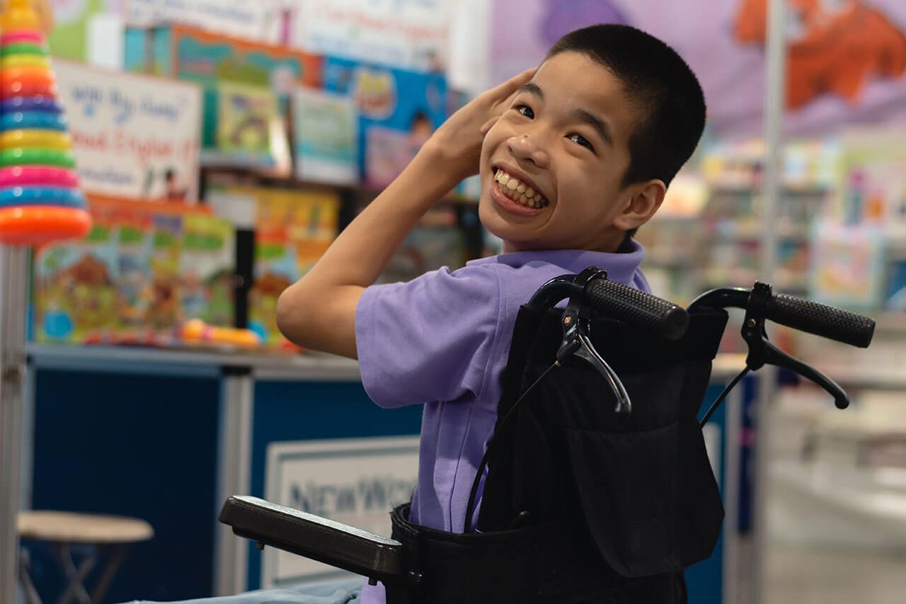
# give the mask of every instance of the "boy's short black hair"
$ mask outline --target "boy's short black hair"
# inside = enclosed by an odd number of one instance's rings
[[[565,52],[601,63],[641,111],[629,140],[623,185],[649,179],[669,185],[705,129],[705,95],[689,65],[668,44],[630,25],[577,29],[560,38],[545,60]]]

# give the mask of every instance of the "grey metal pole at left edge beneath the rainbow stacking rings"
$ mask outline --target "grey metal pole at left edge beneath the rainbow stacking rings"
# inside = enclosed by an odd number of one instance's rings
[[[0,247],[0,602],[14,602],[28,248]]]

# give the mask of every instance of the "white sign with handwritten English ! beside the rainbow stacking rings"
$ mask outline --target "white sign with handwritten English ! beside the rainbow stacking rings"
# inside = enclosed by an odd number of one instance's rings
[[[64,61],[54,69],[84,190],[198,199],[197,85]]]

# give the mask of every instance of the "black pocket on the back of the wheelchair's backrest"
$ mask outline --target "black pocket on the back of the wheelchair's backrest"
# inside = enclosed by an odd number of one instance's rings
[[[710,555],[723,505],[694,420],[565,436],[584,524],[613,570],[644,577]]]

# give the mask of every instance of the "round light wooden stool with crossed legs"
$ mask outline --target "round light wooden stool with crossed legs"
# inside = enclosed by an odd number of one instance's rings
[[[63,590],[63,595],[57,600],[58,604],[66,604],[71,599],[80,604],[101,602],[130,545],[148,541],[154,536],[151,525],[143,520],[69,511],[20,511],[18,527],[19,535],[23,539],[47,542],[60,560],[69,582]],[[90,545],[92,553],[82,558],[77,565],[72,558],[72,545]],[[105,549],[110,551],[107,566],[102,571],[93,593],[89,595],[82,581],[97,563],[97,553]],[[41,598],[31,580],[28,560],[24,555],[19,565],[19,579],[22,580],[28,604],[41,604]]]

